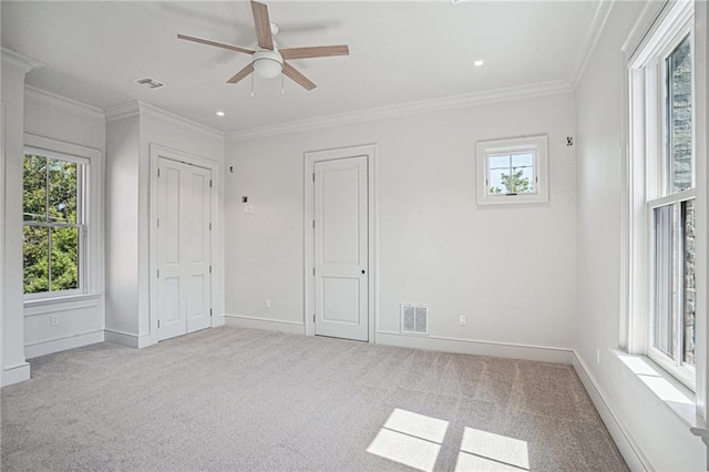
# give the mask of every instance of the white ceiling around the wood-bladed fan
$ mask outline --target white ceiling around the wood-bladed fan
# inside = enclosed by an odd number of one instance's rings
[[[101,109],[140,100],[224,132],[407,102],[569,81],[598,1],[266,1],[281,48],[349,44],[350,55],[291,63],[286,79],[227,84],[249,57],[247,1],[2,1],[2,47],[45,65],[27,83]],[[475,60],[483,66],[473,65]],[[150,91],[134,81],[167,84]],[[225,117],[215,112],[223,110]]]

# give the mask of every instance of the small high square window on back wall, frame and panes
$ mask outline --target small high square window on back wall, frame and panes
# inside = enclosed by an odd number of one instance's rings
[[[481,141],[477,151],[477,204],[548,201],[546,135]]]

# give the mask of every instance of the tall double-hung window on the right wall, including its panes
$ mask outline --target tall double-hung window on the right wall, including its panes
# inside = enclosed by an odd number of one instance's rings
[[[644,188],[636,192],[633,217],[640,223],[636,228],[646,228],[636,230],[630,244],[640,249],[636,259],[647,258],[633,263],[637,271],[633,305],[640,307],[635,325],[647,327],[644,351],[693,390],[692,38],[691,11],[678,3],[630,64],[630,185]]]

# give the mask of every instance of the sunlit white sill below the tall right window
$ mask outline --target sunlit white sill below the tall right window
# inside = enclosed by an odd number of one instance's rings
[[[705,428],[703,420],[697,415],[697,397],[692,391],[648,357],[629,355],[619,349],[610,351],[687,427]]]

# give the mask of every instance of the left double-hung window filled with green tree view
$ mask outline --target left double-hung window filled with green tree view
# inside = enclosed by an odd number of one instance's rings
[[[88,160],[28,147],[23,165],[25,297],[83,293]]]

